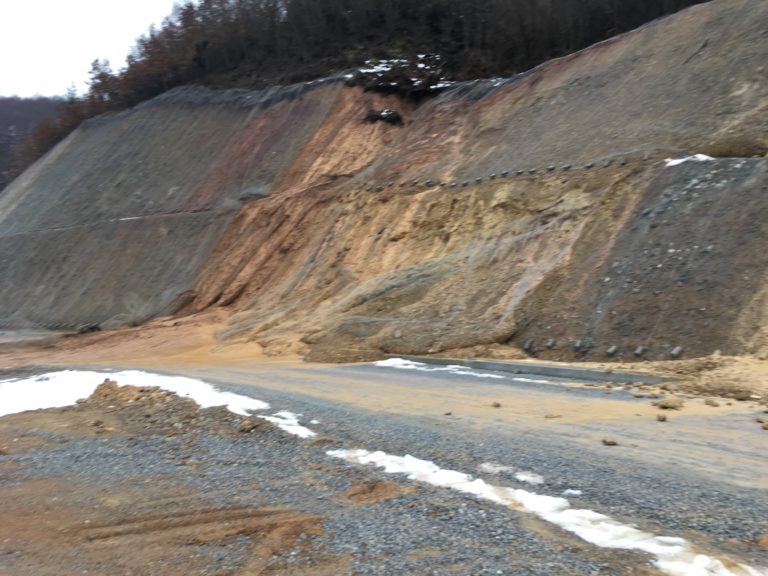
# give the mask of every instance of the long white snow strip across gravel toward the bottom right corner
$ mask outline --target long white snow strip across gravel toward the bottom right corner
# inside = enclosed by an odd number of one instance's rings
[[[718,558],[699,554],[683,538],[657,536],[593,510],[571,508],[565,498],[493,486],[480,478],[445,470],[434,462],[410,455],[392,456],[367,450],[329,450],[327,454],[355,464],[374,464],[389,474],[405,474],[411,480],[522,508],[596,546],[647,552],[655,557],[654,564],[670,576],[768,576],[768,570],[763,568],[731,561],[727,561],[726,566]]]

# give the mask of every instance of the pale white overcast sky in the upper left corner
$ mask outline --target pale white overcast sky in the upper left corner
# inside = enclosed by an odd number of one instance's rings
[[[174,0],[0,0],[0,96],[85,89],[91,62],[125,65],[136,38]]]

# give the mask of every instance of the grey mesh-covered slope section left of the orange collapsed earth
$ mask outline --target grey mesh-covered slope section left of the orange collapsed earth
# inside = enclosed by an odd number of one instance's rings
[[[0,323],[111,326],[177,307],[339,90],[179,89],[86,123],[0,196]]]

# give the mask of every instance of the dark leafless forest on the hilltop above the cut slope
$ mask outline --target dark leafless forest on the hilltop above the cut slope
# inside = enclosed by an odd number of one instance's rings
[[[128,65],[96,60],[88,93],[16,153],[22,171],[83,119],[175,86],[261,88],[370,58],[441,56],[463,80],[510,76],[702,0],[188,0],[137,40]]]

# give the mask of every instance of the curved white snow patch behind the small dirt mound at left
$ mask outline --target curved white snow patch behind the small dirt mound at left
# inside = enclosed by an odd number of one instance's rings
[[[230,412],[243,416],[248,415],[250,410],[269,408],[266,402],[219,390],[195,378],[165,376],[141,370],[62,370],[26,378],[0,380],[0,416],[26,410],[69,406],[81,398],[90,396],[105,378],[115,380],[121,386],[157,386],[179,396],[191,398],[201,408],[226,406]]]

